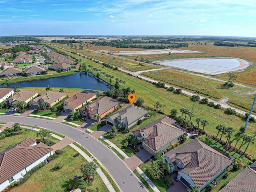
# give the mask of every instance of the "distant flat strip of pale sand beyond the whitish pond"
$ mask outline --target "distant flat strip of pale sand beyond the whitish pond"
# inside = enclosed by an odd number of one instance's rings
[[[109,53],[110,50],[102,50],[101,52]],[[154,55],[154,54],[169,54],[169,52],[172,53],[202,53],[199,51],[190,51],[190,50],[180,50],[180,49],[161,49],[161,50],[141,50],[141,51],[124,51],[124,55]],[[122,51],[112,51],[111,52],[114,55],[122,55]]]

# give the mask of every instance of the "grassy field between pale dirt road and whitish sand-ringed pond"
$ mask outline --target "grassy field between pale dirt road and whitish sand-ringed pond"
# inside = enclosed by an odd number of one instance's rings
[[[151,71],[142,73],[141,75],[156,79],[160,82],[165,82],[171,86],[182,87],[182,89],[214,100],[220,100],[223,97],[228,97],[228,104],[238,107],[241,110],[246,109],[250,111],[254,94],[256,93],[253,89],[243,88],[240,86],[225,88],[222,86],[222,82],[173,70]],[[256,108],[254,109],[254,114],[256,114]]]

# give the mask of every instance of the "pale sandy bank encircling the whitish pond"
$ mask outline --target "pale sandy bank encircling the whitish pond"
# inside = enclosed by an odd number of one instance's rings
[[[184,61],[184,60],[198,60],[198,59],[235,59],[237,60],[240,64],[239,66],[232,68],[232,69],[226,69],[226,70],[222,70],[222,71],[218,71],[218,72],[212,72],[212,73],[206,73],[206,72],[200,72],[200,73],[204,73],[204,74],[222,74],[222,73],[226,73],[226,72],[231,72],[231,71],[241,71],[244,68],[247,68],[248,66],[250,66],[250,63],[246,60],[240,59],[240,58],[234,58],[234,57],[218,57],[218,58],[186,58],[186,59],[172,59],[172,60],[164,60],[164,61],[157,61],[159,63],[161,63],[162,65],[164,65],[164,62],[172,62],[172,61]],[[165,65],[170,67],[169,65]],[[178,68],[178,67],[175,67]],[[184,68],[182,68],[184,69]],[[185,69],[188,70],[188,69]],[[196,70],[188,70],[188,71],[195,71],[198,72]]]

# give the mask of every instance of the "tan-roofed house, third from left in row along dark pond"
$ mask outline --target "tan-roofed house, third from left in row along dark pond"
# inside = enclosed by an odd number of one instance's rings
[[[40,95],[39,97],[33,99],[32,101],[28,102],[31,108],[38,108],[40,103],[48,103],[48,107],[52,107],[58,102],[61,102],[62,99],[66,97],[66,93],[55,92],[55,91],[48,91],[45,94]]]

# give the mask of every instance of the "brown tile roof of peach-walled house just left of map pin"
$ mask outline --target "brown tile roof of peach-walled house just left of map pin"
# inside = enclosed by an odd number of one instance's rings
[[[111,101],[111,99],[111,97],[103,97],[102,99],[82,108],[82,110],[87,111],[87,108],[91,108],[92,110],[89,112],[90,114],[104,114],[119,104],[119,102]]]

